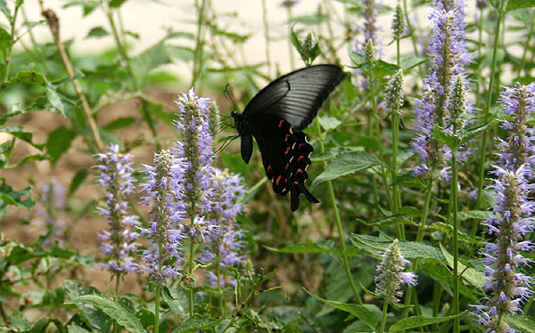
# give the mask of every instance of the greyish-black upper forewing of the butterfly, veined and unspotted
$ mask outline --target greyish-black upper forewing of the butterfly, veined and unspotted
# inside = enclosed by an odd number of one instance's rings
[[[312,122],[334,87],[344,77],[334,65],[316,65],[279,77],[260,90],[243,110],[243,118],[269,114],[292,124],[300,131]]]

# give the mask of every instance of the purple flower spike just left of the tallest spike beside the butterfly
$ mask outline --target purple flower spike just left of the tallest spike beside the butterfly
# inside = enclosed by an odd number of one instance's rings
[[[142,272],[149,273],[149,280],[161,283],[177,276],[183,261],[180,242],[186,235],[180,221],[185,218],[185,207],[177,185],[182,183],[184,163],[169,150],[162,150],[154,156],[154,167],[144,167],[149,179],[142,184],[142,191],[145,204],[151,206],[152,219],[149,228],[141,229],[141,235],[151,241],[143,251]]]

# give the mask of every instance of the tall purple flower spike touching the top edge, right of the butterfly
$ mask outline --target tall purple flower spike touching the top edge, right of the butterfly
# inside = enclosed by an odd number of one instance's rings
[[[466,80],[466,67],[472,61],[465,46],[465,3],[464,0],[435,0],[428,54],[432,57],[429,75],[424,81],[424,93],[416,100],[416,138],[411,142],[413,151],[421,163],[415,167],[416,176],[448,178],[446,162],[451,151],[432,138],[435,126],[448,128],[449,95],[461,77]],[[472,106],[465,105],[467,113]],[[459,153],[462,158],[462,153]]]

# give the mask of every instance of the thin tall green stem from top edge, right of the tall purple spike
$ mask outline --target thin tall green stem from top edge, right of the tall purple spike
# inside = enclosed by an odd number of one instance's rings
[[[483,110],[483,117],[487,116],[490,111],[490,104],[492,103],[492,91],[494,90],[494,78],[496,77],[496,70],[497,70],[497,63],[498,63],[498,44],[499,44],[499,35],[500,35],[500,27],[501,27],[501,20],[503,19],[505,12],[505,5],[507,3],[507,0],[501,1],[501,4],[499,6],[499,12],[498,12],[498,19],[496,20],[496,32],[494,35],[494,48],[492,50],[492,65],[490,66],[490,80],[489,80],[489,88],[487,89],[487,102],[485,103],[485,108]],[[481,207],[481,199],[482,199],[482,191],[483,191],[483,183],[485,181],[485,158],[487,155],[487,133],[483,133],[483,137],[481,139],[481,156],[480,156],[480,170],[479,170],[479,183],[477,188],[477,201],[476,201],[476,207]],[[472,237],[475,236],[477,232],[477,223],[474,221],[472,226]]]

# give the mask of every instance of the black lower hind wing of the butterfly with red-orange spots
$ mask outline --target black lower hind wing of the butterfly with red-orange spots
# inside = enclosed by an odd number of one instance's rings
[[[262,163],[273,191],[291,195],[291,208],[299,208],[299,195],[310,202],[319,202],[305,187],[309,178],[309,155],[313,148],[305,134],[293,132],[289,122],[273,115],[253,114],[248,118],[248,129],[259,144]]]

